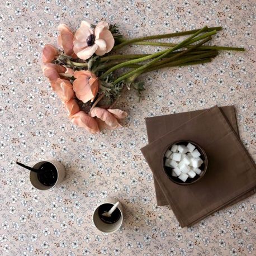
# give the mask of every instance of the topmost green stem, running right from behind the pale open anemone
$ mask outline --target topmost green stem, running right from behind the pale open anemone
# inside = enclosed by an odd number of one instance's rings
[[[206,32],[216,30],[221,30],[222,27],[207,27]],[[176,36],[185,36],[185,35],[191,35],[195,34],[196,32],[200,31],[199,29],[196,30],[189,30],[189,31],[182,31],[182,32],[176,32],[176,33],[170,33],[170,34],[163,34],[163,35],[154,35],[154,36],[144,36],[144,37],[138,37],[131,40],[126,40],[122,42],[121,44],[116,45],[113,49],[118,50],[122,48],[125,45],[133,44],[134,42],[140,42],[145,40],[152,40],[152,39],[161,39],[161,38],[170,38],[170,37],[176,37]]]

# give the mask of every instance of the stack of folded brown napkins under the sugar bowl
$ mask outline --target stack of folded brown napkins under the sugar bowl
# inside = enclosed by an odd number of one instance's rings
[[[233,106],[146,118],[146,127],[149,144],[141,151],[158,205],[170,205],[182,227],[255,193],[256,167],[239,139]],[[205,176],[188,186],[170,181],[163,169],[166,147],[178,140],[195,141],[208,158]]]

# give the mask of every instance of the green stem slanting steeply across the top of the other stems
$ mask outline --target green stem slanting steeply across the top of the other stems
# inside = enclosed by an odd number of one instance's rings
[[[165,53],[163,53],[162,55],[158,56],[154,60],[151,60],[149,63],[143,65],[142,67],[140,67],[138,69],[132,70],[130,73],[128,73],[126,75],[122,75],[120,78],[116,79],[113,82],[113,84],[121,82],[121,80],[129,78],[131,76],[132,76],[132,80],[134,80],[141,73],[143,73],[145,69],[149,68],[151,65],[156,63],[158,60],[160,60],[160,59],[164,58],[165,56],[167,56],[169,53],[172,53],[172,51],[175,51],[175,50],[178,50],[179,48],[182,48],[184,45],[188,44],[193,38],[195,38],[197,35],[201,34],[202,32],[205,32],[206,30],[207,30],[207,26],[203,27],[201,30],[197,31],[192,36],[189,36],[187,39],[183,40],[178,45],[174,46],[172,49],[169,49],[168,51],[165,51]],[[147,57],[145,57],[145,58],[147,58]],[[129,62],[129,61],[127,61],[127,62]],[[133,63],[131,63],[131,64],[133,64]]]

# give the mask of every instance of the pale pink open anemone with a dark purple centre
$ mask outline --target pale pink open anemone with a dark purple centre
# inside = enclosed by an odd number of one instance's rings
[[[74,35],[74,53],[80,59],[89,59],[94,53],[102,56],[112,50],[115,40],[108,23],[101,21],[95,29],[87,21],[82,21]]]

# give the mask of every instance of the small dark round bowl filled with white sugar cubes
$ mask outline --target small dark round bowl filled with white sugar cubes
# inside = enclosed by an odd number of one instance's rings
[[[169,145],[163,159],[164,171],[169,179],[181,185],[199,181],[206,172],[207,163],[205,150],[188,140]]]

